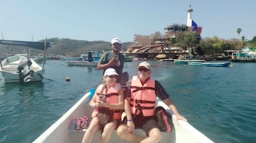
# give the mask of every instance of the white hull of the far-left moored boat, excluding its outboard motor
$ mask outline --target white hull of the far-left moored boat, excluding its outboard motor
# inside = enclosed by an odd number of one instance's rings
[[[20,61],[25,58],[24,56],[12,56],[8,57],[2,62],[2,67],[0,68],[0,74],[5,83],[11,82],[23,82],[20,78],[20,74],[17,73]],[[29,82],[33,81],[42,81],[42,76],[44,75],[45,69],[42,69],[40,65],[38,65],[35,61],[30,59],[32,65],[30,69],[34,71],[33,78],[30,79]]]

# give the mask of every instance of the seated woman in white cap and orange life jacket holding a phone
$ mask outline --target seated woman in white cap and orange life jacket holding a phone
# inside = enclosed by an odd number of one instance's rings
[[[119,75],[116,73],[114,68],[106,69],[103,76],[105,84],[101,84],[97,87],[94,97],[90,101],[90,106],[95,108],[95,110],[92,113],[93,119],[84,134],[82,142],[92,142],[95,132],[100,129],[102,130],[100,142],[108,142],[111,138],[112,131],[119,126],[121,120],[121,109],[123,109],[124,106],[124,93],[122,86],[119,83],[116,83],[118,76]],[[101,100],[102,98],[100,97],[102,96],[106,97],[105,101]],[[105,127],[100,126],[98,118],[98,113],[103,108],[107,108],[114,112],[113,121],[107,123]]]

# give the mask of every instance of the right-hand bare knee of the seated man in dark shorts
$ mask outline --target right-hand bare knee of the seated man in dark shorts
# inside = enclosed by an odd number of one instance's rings
[[[159,142],[162,138],[161,132],[159,129],[154,128],[152,130],[150,130],[149,132],[149,137],[143,139],[141,141],[141,143],[155,143],[155,142]]]

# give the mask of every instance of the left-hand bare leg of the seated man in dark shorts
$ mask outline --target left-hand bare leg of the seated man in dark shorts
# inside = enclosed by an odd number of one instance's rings
[[[117,128],[117,135],[128,141],[136,141],[136,142],[141,142],[144,138],[137,136],[136,134],[133,134],[132,132],[129,132],[128,127],[125,124],[121,124]]]

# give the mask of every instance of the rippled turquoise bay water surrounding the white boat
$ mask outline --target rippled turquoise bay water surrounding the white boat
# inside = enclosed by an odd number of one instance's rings
[[[47,61],[44,75],[54,81],[0,84],[0,142],[32,142],[102,81],[96,67],[54,62]],[[130,78],[140,62],[125,63]],[[214,142],[256,142],[255,63],[204,67],[148,62],[152,77],[197,130]]]

